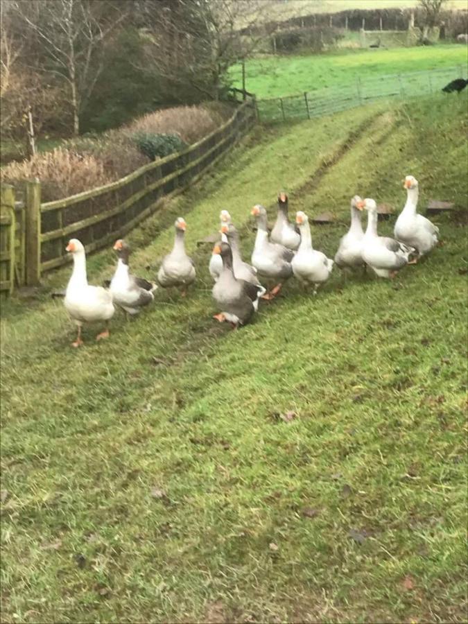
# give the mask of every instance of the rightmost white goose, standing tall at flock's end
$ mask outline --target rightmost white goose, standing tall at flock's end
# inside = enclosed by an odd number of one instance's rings
[[[437,234],[439,228],[426,219],[422,214],[417,214],[417,198],[419,185],[413,175],[407,175],[404,181],[406,188],[406,204],[395,223],[395,238],[417,250],[417,257],[409,264],[415,264],[420,257],[430,252],[438,243]]]

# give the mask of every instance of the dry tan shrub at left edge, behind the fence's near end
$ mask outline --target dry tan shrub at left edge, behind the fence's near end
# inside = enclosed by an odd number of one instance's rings
[[[12,162],[0,171],[2,182],[10,184],[32,177],[40,179],[42,201],[49,202],[101,187],[119,176],[107,173],[103,163],[94,156],[79,155],[63,148],[38,153],[23,162]]]

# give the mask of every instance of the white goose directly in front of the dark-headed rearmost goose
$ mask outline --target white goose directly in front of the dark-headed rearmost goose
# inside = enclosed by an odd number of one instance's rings
[[[313,284],[313,294],[317,294],[317,288],[329,279],[333,260],[312,247],[311,227],[307,215],[299,211],[296,214],[296,223],[301,233],[299,249],[291,262],[293,273],[302,284]]]

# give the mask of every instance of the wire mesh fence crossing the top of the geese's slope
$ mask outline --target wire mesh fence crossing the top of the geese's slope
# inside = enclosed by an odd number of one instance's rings
[[[426,71],[408,71],[373,78],[358,78],[354,84],[328,87],[302,95],[257,100],[261,122],[312,119],[381,98],[408,98],[440,92],[455,78],[466,78],[467,67],[444,67]]]

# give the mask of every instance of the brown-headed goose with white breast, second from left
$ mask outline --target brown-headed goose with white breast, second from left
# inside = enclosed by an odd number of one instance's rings
[[[114,244],[117,254],[117,268],[110,281],[110,293],[117,304],[130,315],[138,314],[144,306],[154,300],[157,285],[142,277],[130,274],[130,247],[119,239]]]

